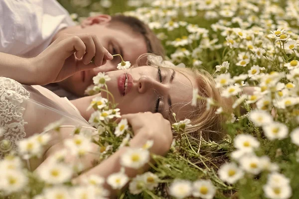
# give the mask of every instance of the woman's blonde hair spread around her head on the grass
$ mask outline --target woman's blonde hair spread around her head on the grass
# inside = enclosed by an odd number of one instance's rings
[[[186,127],[185,132],[196,139],[202,137],[205,140],[217,141],[223,138],[224,131],[222,129],[222,123],[226,118],[221,114],[216,114],[215,111],[219,106],[223,107],[225,111],[228,106],[226,106],[222,100],[220,91],[216,88],[213,77],[205,70],[175,67],[172,63],[164,61],[162,57],[152,54],[142,55],[139,59],[142,59],[144,56],[147,56],[147,65],[149,66],[168,69],[171,67],[172,70],[181,73],[186,78],[189,79],[189,77],[193,77],[195,79],[195,88],[198,88],[198,95],[202,98],[198,99],[196,107],[187,113],[186,118],[191,120],[192,126]],[[213,99],[217,105],[207,109],[207,98]],[[191,103],[191,101],[189,103]],[[183,108],[183,106],[181,108]],[[172,115],[167,119],[171,123],[175,122]]]

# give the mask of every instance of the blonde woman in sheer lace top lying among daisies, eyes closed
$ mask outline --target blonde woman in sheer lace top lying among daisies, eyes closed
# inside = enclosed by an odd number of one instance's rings
[[[93,110],[86,109],[94,96],[70,102],[43,87],[27,85],[61,81],[77,71],[89,69],[89,63],[94,56],[97,66],[112,59],[93,35],[86,34],[62,35],[44,52],[31,59],[0,54],[1,75],[7,77],[0,78],[0,125],[4,127],[0,152],[7,153],[15,148],[18,140],[42,132],[50,122],[62,118],[65,128],[61,129],[60,135],[53,136],[44,157],[30,162],[34,169],[47,162],[49,156],[62,148],[59,139],[61,136],[63,139],[70,136],[73,128],[69,126],[92,128],[87,120]],[[64,63],[70,59],[76,60],[76,67],[64,67]],[[77,177],[75,181],[80,181],[86,175],[107,177],[119,171],[121,154],[127,148],[142,147],[147,140],[153,140],[154,143],[150,152],[166,154],[172,142],[169,123],[173,118],[172,113],[176,113],[179,120],[192,120],[193,126],[187,131],[194,136],[199,135],[200,130],[207,136],[214,137],[214,134],[209,135],[209,132],[219,130],[221,117],[214,114],[215,108],[206,110],[205,100],[199,100],[196,107],[191,106],[193,88],[198,88],[199,95],[203,98],[220,101],[219,91],[215,89],[210,76],[188,69],[165,68],[161,62],[152,59],[151,64],[153,67],[135,67],[107,73],[111,78],[107,82],[108,90],[119,104],[122,117],[127,118],[132,125],[135,136],[130,147],[121,148],[101,164]],[[107,94],[103,92],[102,97],[106,98]],[[3,137],[8,139],[11,145],[3,142]],[[95,151],[97,147],[94,145]],[[71,156],[68,158],[68,161],[72,161]],[[85,168],[91,168],[96,156],[90,154],[84,158],[82,162]],[[137,171],[127,169],[126,174],[133,177]]]

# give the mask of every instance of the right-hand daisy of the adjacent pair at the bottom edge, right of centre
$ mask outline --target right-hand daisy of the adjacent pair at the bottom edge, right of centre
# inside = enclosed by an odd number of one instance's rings
[[[212,199],[216,189],[210,180],[197,180],[193,182],[192,195],[201,199]]]

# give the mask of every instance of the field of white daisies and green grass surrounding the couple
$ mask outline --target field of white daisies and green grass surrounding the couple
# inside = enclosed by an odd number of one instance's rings
[[[194,138],[185,133],[185,128],[190,125],[189,120],[178,121],[172,125],[178,136],[165,157],[149,154],[147,149],[152,144],[150,141],[137,154],[141,157],[140,165],[149,156],[156,161],[156,165],[151,165],[149,172],[131,179],[128,189],[119,192],[119,198],[299,198],[298,0],[59,2],[78,22],[83,17],[97,13],[123,13],[138,17],[149,24],[161,39],[166,50],[166,60],[179,67],[183,67],[183,63],[185,67],[207,70],[215,78],[223,97],[236,96],[232,114],[224,112],[216,101],[206,99],[208,106],[217,106],[216,114],[227,115],[224,124],[227,134],[222,140],[204,140],[201,135]],[[109,81],[109,77],[99,78]],[[251,95],[243,92],[247,87],[252,88]],[[197,99],[195,94],[193,100]],[[106,99],[96,99],[91,108],[102,113],[106,111],[111,116],[109,119],[117,117],[118,109],[112,107],[104,110],[105,105],[99,106],[96,101],[108,103]],[[240,111],[238,106],[246,111]],[[128,144],[132,134],[125,120],[116,124],[109,119],[101,119],[101,116],[99,113],[93,114],[90,119],[90,123],[99,129],[99,162]],[[105,125],[102,125],[103,122]],[[59,131],[55,125],[51,129]],[[74,133],[78,135],[74,139],[85,143],[86,138],[79,133],[81,130],[75,129]],[[48,138],[38,138],[43,139]],[[68,140],[65,145],[78,154],[82,153],[82,148],[78,150],[72,143],[72,140]],[[28,140],[23,144],[28,144]],[[82,146],[86,146],[85,150],[88,151],[88,144]],[[22,149],[21,144],[19,147]],[[139,168],[140,165],[127,161],[133,153],[129,151],[124,156],[123,166]],[[28,159],[36,154],[25,151],[21,157],[24,158],[24,155]],[[65,154],[58,154],[55,161],[59,162],[59,157],[65,157]],[[18,165],[18,161],[18,158],[10,156],[0,162],[0,168]],[[70,173],[68,171],[73,168],[59,164],[56,169],[65,174],[60,180],[47,175],[47,172],[53,171],[54,166],[41,170],[41,179],[21,170],[15,174],[7,172],[7,178],[3,177],[5,180],[0,183],[0,197],[8,195],[11,198],[22,196],[24,199],[48,199],[49,193],[58,192],[69,196],[66,193],[72,187],[70,177],[75,171]],[[120,183],[115,183],[116,179]],[[120,171],[109,177],[108,184],[119,190],[128,180]],[[15,181],[14,189],[11,188],[12,181]],[[86,182],[98,185],[97,192],[92,186],[88,186],[88,189],[76,187],[71,192],[87,191],[97,193],[94,196],[98,198],[107,197],[101,187],[103,179],[94,176]],[[46,185],[58,185],[61,189]]]

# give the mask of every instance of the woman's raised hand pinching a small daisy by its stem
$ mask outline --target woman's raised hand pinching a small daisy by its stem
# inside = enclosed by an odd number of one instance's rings
[[[94,63],[91,63],[95,57]],[[74,73],[102,66],[112,55],[93,34],[63,34],[47,49],[30,59],[35,83],[60,82]]]

